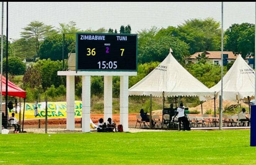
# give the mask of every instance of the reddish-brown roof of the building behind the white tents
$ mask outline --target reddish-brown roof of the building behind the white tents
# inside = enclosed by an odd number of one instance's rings
[[[208,57],[208,59],[221,59],[221,51],[201,51],[201,52],[196,52],[194,54],[192,54],[191,56],[187,57],[186,59],[196,59],[196,57],[198,56],[198,54],[202,54],[205,53],[206,57]],[[228,54],[228,59],[236,59],[236,55],[234,55],[234,53],[232,51],[223,51],[223,54]]]

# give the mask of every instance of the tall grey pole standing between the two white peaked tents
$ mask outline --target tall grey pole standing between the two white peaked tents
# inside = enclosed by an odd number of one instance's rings
[[[222,130],[222,108],[223,108],[223,2],[222,2],[222,63],[221,63],[221,97],[219,110],[219,130]]]

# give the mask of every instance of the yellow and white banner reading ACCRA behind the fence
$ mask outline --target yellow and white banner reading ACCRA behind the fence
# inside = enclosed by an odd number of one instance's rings
[[[46,117],[46,103],[38,103],[38,115],[35,116],[35,103],[25,103],[25,117],[24,120],[31,119],[45,119]],[[21,119],[23,118],[23,104],[21,104]],[[15,108],[9,110],[9,116],[11,116],[12,112],[15,112]],[[20,108],[17,108],[17,114],[15,117],[18,119],[18,115],[20,112]],[[75,101],[74,105],[75,117],[82,117],[82,101]],[[66,102],[47,102],[47,116],[48,119],[59,119],[66,118]]]

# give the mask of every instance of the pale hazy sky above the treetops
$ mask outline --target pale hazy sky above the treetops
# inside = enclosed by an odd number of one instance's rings
[[[31,21],[40,21],[55,28],[59,23],[75,21],[83,30],[104,27],[118,32],[121,25],[130,24],[132,33],[152,26],[177,27],[193,18],[213,17],[221,22],[221,2],[9,2],[8,6],[8,38],[11,39],[20,38],[22,28]],[[223,11],[224,29],[233,23],[255,23],[255,2],[224,2]]]

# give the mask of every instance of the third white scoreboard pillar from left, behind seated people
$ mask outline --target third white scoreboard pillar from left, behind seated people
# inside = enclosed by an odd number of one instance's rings
[[[104,122],[107,122],[108,117],[112,118],[112,76],[104,76]]]

